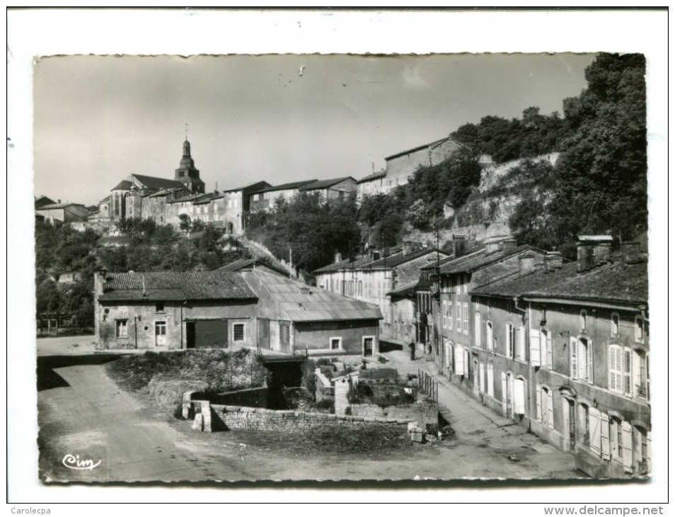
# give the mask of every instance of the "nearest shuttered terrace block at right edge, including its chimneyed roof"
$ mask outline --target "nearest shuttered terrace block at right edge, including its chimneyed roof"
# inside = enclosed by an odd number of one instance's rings
[[[588,475],[646,475],[647,261],[638,244],[610,246],[579,237],[575,263],[547,254],[531,273],[471,290],[483,322],[463,372],[484,404],[575,454]]]

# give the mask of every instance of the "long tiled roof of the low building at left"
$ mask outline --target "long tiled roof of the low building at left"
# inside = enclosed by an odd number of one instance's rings
[[[145,296],[144,296],[145,292]],[[166,271],[108,273],[101,301],[109,300],[255,300],[255,292],[237,273]]]

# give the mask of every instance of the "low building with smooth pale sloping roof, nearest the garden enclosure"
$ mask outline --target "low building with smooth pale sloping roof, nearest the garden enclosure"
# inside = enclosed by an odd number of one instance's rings
[[[379,307],[258,268],[241,273],[258,295],[258,346],[308,355],[379,353]]]

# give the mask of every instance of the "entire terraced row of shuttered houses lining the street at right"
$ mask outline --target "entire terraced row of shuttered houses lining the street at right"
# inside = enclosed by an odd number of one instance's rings
[[[651,470],[647,256],[580,236],[577,261],[497,237],[450,254],[394,249],[317,271],[318,287],[379,305],[381,336],[424,343],[439,373],[575,454],[594,477]],[[405,246],[404,246],[405,247]]]

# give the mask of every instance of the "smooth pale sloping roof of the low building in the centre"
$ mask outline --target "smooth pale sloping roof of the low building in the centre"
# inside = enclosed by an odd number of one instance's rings
[[[279,319],[289,319],[292,322],[382,319],[379,307],[372,303],[310,287],[257,269],[241,274],[258,291],[260,300],[275,302],[281,313]]]

